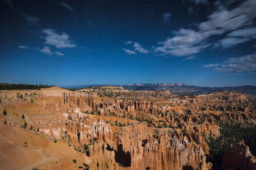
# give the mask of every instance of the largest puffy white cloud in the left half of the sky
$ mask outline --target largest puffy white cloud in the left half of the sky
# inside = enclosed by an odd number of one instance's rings
[[[76,45],[70,41],[68,34],[62,32],[58,34],[56,31],[52,29],[43,29],[42,33],[45,34],[42,38],[45,39],[45,44],[53,45],[56,48],[73,48]]]

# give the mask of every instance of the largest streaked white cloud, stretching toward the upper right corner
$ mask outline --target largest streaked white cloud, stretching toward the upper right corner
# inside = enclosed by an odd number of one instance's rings
[[[200,1],[196,1],[196,3],[200,3]],[[237,45],[238,43],[250,41],[255,38],[255,9],[255,0],[244,1],[244,3],[232,10],[220,8],[209,15],[206,22],[200,23],[198,27],[196,27],[196,31],[193,29],[180,29],[179,31],[175,31],[173,32],[173,37],[161,41],[159,43],[161,46],[156,47],[154,51],[160,55],[191,55],[211,46],[212,43],[209,43],[208,39],[211,36],[225,35],[230,31],[233,32],[227,35],[227,39],[217,40],[219,43],[215,44],[227,48]],[[246,29],[242,29],[242,27],[246,27]],[[241,29],[241,31],[237,29]],[[238,34],[241,37],[233,37]],[[249,34],[250,38],[248,38]]]

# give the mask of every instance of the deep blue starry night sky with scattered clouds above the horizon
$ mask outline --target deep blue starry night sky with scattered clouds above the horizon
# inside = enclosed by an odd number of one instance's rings
[[[256,85],[255,9],[255,0],[0,0],[0,82]]]

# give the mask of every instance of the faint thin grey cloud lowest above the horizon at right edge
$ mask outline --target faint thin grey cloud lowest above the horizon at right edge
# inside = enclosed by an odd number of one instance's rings
[[[228,73],[256,71],[256,52],[241,57],[232,57],[218,64],[207,64],[204,67],[213,67],[215,71]]]

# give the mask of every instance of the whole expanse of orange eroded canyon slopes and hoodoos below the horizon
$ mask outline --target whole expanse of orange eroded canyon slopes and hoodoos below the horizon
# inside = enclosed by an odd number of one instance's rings
[[[255,167],[256,103],[240,92],[51,87],[1,90],[0,99],[0,169]],[[246,152],[227,150],[240,139]],[[230,166],[236,151],[242,163]]]

